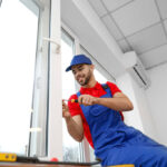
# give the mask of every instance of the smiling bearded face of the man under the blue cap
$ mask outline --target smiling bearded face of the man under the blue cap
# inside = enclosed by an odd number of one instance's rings
[[[92,65],[76,65],[71,68],[75,79],[79,85],[86,86],[91,79],[94,66]]]

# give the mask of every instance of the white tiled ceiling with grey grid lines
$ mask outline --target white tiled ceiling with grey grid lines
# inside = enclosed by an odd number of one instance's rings
[[[88,0],[122,52],[146,69],[167,62],[167,0]]]

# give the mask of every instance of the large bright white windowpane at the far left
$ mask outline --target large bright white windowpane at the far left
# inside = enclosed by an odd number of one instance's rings
[[[19,0],[0,8],[0,151],[26,155],[29,143],[38,16]]]

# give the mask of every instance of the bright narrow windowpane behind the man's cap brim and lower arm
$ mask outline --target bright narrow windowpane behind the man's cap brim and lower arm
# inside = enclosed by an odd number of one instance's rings
[[[68,99],[76,92],[76,84],[72,73],[65,72],[70,65],[75,53],[75,41],[63,30],[61,33],[61,62],[62,62],[62,99]],[[80,161],[80,144],[75,141],[68,134],[66,121],[62,121],[62,137],[63,137],[63,160],[65,161]]]

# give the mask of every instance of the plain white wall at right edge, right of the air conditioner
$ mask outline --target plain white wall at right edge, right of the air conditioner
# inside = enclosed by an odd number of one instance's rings
[[[158,141],[167,145],[167,63],[148,70],[151,85],[146,90]]]

